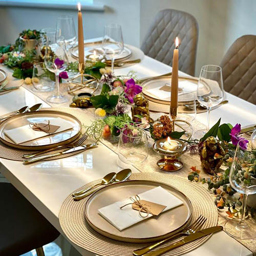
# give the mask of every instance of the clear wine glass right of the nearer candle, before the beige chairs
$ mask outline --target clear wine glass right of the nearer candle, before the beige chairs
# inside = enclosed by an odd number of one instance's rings
[[[224,97],[222,69],[215,65],[206,65],[201,68],[197,87],[197,100],[207,108],[206,130],[195,133],[196,138],[203,137],[209,131],[210,110],[220,104]]]

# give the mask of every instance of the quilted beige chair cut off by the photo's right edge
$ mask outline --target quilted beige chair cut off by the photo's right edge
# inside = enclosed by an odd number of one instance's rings
[[[225,91],[256,104],[256,35],[234,41],[221,67]]]

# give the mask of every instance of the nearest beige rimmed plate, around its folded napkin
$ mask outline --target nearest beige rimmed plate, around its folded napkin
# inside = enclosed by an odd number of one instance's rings
[[[158,186],[179,198],[184,204],[162,212],[159,216],[143,220],[122,231],[119,231],[98,214],[98,209],[104,206]],[[103,187],[87,200],[84,207],[86,220],[94,230],[105,237],[130,243],[154,242],[177,233],[187,225],[191,213],[191,202],[183,193],[170,185],[150,180],[130,180]]]

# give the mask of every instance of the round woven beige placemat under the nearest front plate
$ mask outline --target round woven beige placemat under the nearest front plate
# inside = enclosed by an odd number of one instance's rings
[[[136,180],[153,180],[172,185],[184,193],[193,205],[192,222],[195,221],[200,214],[207,218],[202,228],[216,226],[218,223],[218,212],[209,191],[197,183],[189,182],[184,178],[170,176],[158,173],[139,173],[132,174],[130,179]],[[81,188],[86,188],[99,181],[94,181]],[[76,191],[80,190],[78,188]],[[133,250],[142,248],[146,244],[132,244],[115,241],[102,236],[94,231],[84,218],[84,204],[87,199],[74,201],[72,194],[63,202],[59,212],[59,222],[63,232],[76,245],[89,250],[98,255],[104,256],[131,256]],[[202,245],[210,236],[198,239],[189,244],[183,245],[172,251],[166,252],[164,255],[181,255],[188,251],[194,250]],[[173,241],[172,241],[173,242]],[[169,245],[166,243],[163,246]],[[159,248],[161,248],[160,246]]]

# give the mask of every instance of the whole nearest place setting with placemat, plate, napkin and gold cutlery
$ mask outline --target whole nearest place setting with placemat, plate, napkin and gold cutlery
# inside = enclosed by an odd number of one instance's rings
[[[104,255],[183,254],[222,230],[206,190],[180,177],[166,181],[161,174],[131,175],[129,169],[75,190],[59,220],[73,243],[96,254],[104,248]]]

